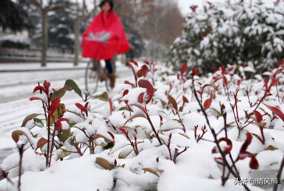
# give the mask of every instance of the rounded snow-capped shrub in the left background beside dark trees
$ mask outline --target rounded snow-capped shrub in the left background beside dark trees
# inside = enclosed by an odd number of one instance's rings
[[[0,47],[24,49],[30,47],[30,42],[26,38],[9,34],[0,37]]]

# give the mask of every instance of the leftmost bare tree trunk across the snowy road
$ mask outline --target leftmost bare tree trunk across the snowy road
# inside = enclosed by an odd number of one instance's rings
[[[41,11],[42,17],[42,49],[41,49],[41,66],[46,66],[46,52],[48,46],[48,31],[47,31],[47,11]]]

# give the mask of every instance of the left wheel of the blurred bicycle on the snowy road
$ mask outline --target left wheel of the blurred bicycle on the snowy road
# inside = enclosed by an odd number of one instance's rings
[[[90,59],[85,70],[86,91],[91,94],[97,91],[99,85],[99,61]]]

